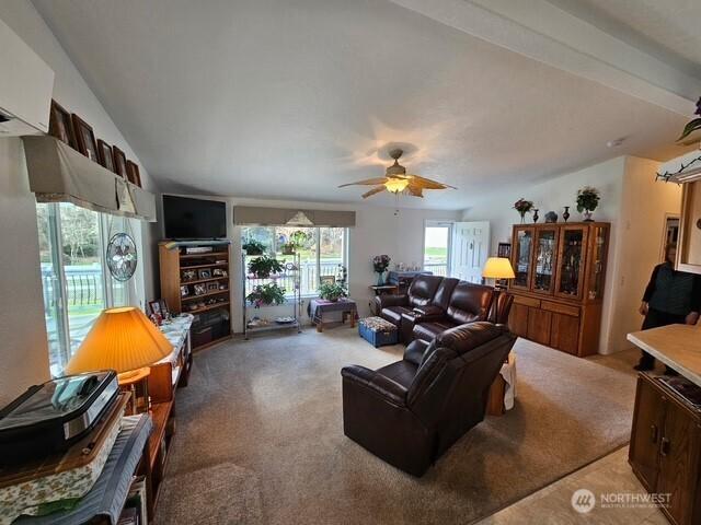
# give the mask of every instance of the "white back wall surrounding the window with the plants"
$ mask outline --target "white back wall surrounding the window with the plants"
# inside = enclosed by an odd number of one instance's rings
[[[241,229],[233,226],[233,218],[231,215],[233,206],[354,210],[356,212],[356,225],[349,229],[348,235],[348,292],[357,301],[360,316],[369,314],[369,303],[374,293],[368,287],[377,281],[377,275],[372,270],[372,257],[381,254],[389,255],[392,258],[391,268],[397,262],[421,265],[424,257],[424,223],[434,220],[456,221],[460,219],[461,214],[459,211],[401,208],[395,215],[394,208],[365,203],[333,205],[327,202],[237,199],[233,197],[199,197],[192,195],[183,195],[182,197],[208,198],[227,202],[227,234],[232,242],[230,275],[232,280],[231,311],[234,331],[241,331],[243,328],[243,313],[241,310],[241,261],[238,257],[238,254],[241,253]],[[159,213],[162,213],[161,206],[162,201],[159,199]],[[162,233],[161,231],[161,236]],[[264,307],[257,314],[251,310],[249,317],[260,315],[261,317],[272,318],[277,315],[288,315],[289,312],[289,307]],[[306,310],[302,314],[302,318],[306,319]]]

